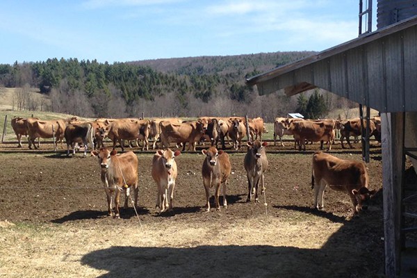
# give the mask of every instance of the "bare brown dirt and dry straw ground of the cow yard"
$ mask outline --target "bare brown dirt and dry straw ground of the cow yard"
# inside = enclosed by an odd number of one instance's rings
[[[371,146],[368,163],[370,187],[379,190],[373,206],[351,218],[349,197],[329,189],[325,210],[313,210],[311,157],[318,145],[308,147],[267,147],[268,206],[263,196],[260,204],[245,202],[244,153],[230,152],[229,206],[209,213],[204,156],[181,154],[174,209],[161,215],[154,208],[154,152],[136,149],[138,220],[130,204],[121,219],[106,216],[97,158],[2,145],[0,277],[383,277],[380,148]],[[336,145],[333,152],[360,160],[355,147]]]

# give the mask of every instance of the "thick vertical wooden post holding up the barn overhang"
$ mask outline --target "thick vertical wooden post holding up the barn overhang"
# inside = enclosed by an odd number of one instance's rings
[[[382,113],[385,275],[400,275],[404,113]]]

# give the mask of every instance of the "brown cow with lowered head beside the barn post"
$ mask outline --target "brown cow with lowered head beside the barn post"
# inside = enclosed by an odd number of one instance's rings
[[[326,186],[349,195],[354,215],[368,208],[368,201],[376,191],[368,189],[368,171],[363,162],[343,160],[330,154],[316,152],[313,155],[312,168],[311,188],[314,188],[315,208],[324,207],[323,193]]]

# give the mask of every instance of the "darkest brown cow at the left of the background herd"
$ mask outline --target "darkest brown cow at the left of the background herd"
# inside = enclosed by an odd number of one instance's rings
[[[85,122],[83,124],[68,124],[65,127],[64,137],[67,142],[67,156],[70,156],[70,146],[72,147],[72,154],[75,155],[75,145],[83,144],[84,156],[87,156],[88,144],[94,149],[92,136],[92,124]]]

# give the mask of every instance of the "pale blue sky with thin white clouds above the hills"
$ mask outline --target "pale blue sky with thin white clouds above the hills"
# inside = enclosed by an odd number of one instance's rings
[[[358,14],[358,0],[1,0],[0,63],[322,51],[357,37]]]

